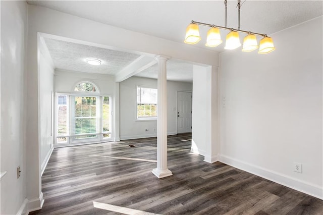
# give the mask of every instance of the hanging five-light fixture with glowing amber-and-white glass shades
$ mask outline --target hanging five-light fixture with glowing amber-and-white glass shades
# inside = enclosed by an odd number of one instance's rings
[[[225,49],[236,49],[241,46],[240,39],[239,39],[239,33],[246,33],[247,36],[243,39],[243,48],[242,51],[250,52],[259,47],[258,53],[269,53],[275,50],[275,46],[273,43],[273,39],[271,37],[268,37],[266,34],[260,34],[260,33],[254,33],[251,31],[244,31],[240,30],[240,0],[238,1],[238,29],[234,28],[228,28],[227,27],[227,5],[228,1],[225,0],[225,27],[224,26],[218,26],[218,25],[211,25],[203,22],[195,22],[191,21],[191,24],[186,28],[186,35],[185,35],[185,43],[188,44],[196,44],[201,40],[198,25],[203,25],[207,27],[211,27],[207,32],[206,37],[206,43],[205,46],[208,47],[216,47],[222,43],[221,36],[220,36],[220,30],[229,30],[230,32],[227,35],[226,38],[226,46]],[[262,36],[263,38],[260,40],[260,45],[257,44],[257,38],[256,36]]]

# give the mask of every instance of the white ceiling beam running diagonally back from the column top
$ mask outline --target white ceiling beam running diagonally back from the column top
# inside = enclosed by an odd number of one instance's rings
[[[124,81],[156,63],[154,58],[142,55],[116,74],[116,82]]]

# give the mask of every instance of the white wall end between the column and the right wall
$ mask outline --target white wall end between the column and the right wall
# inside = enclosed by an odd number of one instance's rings
[[[218,68],[194,65],[191,151],[208,163],[218,161],[220,153],[218,92]]]

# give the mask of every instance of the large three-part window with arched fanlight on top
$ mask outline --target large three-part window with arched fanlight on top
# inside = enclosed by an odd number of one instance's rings
[[[110,96],[82,82],[74,93],[57,93],[56,98],[56,144],[112,139]]]

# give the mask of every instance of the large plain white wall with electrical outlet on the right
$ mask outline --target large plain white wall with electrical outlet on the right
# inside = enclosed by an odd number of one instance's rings
[[[221,53],[221,161],[323,198],[322,17],[272,37],[267,55]]]

